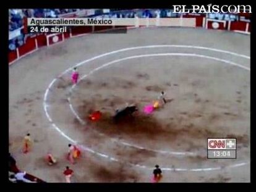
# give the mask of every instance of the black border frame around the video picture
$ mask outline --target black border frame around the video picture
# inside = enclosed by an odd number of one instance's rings
[[[1,64],[1,72],[2,75],[1,77],[4,80],[4,83],[2,84],[2,94],[1,94],[1,99],[2,99],[2,139],[1,139],[1,146],[2,146],[2,154],[6,154],[6,156],[4,155],[2,158],[2,160],[4,161],[4,166],[3,168],[7,169],[7,157],[8,157],[8,153],[9,152],[9,145],[7,144],[8,139],[7,136],[9,137],[9,131],[6,127],[9,127],[9,65],[8,65],[8,35],[9,35],[9,31],[8,31],[8,9],[13,9],[13,8],[47,8],[47,7],[59,7],[59,8],[66,8],[66,7],[81,7],[81,8],[88,8],[88,9],[92,9],[92,8],[124,8],[124,9],[134,9],[134,8],[140,8],[140,9],[145,9],[145,8],[164,8],[164,7],[169,7],[172,4],[186,4],[186,5],[191,5],[191,4],[250,4],[252,6],[252,23],[254,22],[254,11],[255,7],[253,6],[253,2],[254,1],[249,1],[249,0],[240,0],[240,1],[196,1],[194,0],[193,2],[189,1],[189,0],[183,0],[183,1],[134,1],[134,0],[129,0],[129,1],[100,1],[100,0],[93,0],[93,1],[64,1],[62,0],[60,1],[52,1],[52,0],[44,0],[44,1],[27,1],[27,0],[23,0],[23,1],[17,1],[15,2],[15,0],[12,1],[8,1],[8,2],[4,2],[1,4],[1,7],[4,7],[4,9],[1,9],[1,19],[2,19],[2,23],[1,25],[4,26],[2,28],[2,35],[0,35],[1,38],[1,51],[0,51],[0,56],[2,58],[2,64]],[[9,4],[7,4],[9,3]],[[252,46],[254,45],[254,32],[255,28],[254,25],[252,24],[252,28],[251,28],[251,35],[250,35],[250,54],[251,54],[251,64],[254,63],[254,54],[253,51],[254,49],[252,49]],[[251,69],[253,72],[253,68],[254,65],[251,65]],[[250,74],[250,83],[251,86],[253,85],[253,81],[254,79],[252,78],[252,73]],[[7,93],[7,94],[6,94]],[[254,96],[254,97],[252,97]],[[250,98],[255,98],[254,95],[254,91],[250,91]],[[251,108],[250,108],[250,114],[254,114],[252,112],[252,108],[254,107],[254,100],[251,99]],[[5,109],[7,112],[5,112]],[[253,129],[254,129],[254,121],[253,118],[250,118],[250,156],[251,156],[251,162],[252,162],[252,151],[254,150],[252,148],[252,146],[255,146],[255,144],[253,144],[253,140],[252,140],[252,133],[253,133]],[[252,169],[254,167],[254,164],[250,164],[250,183],[252,183]],[[7,174],[7,170],[6,170],[6,174]],[[8,179],[7,179],[7,175],[5,174],[1,174],[2,181],[5,181],[7,183]],[[4,182],[4,183],[5,183]],[[178,186],[179,188],[177,188],[178,190],[181,190],[181,186],[182,187],[189,187],[187,189],[191,190],[192,188],[190,188],[190,186],[205,186],[205,188],[203,188],[203,190],[209,190],[210,188],[213,189],[214,187],[220,186],[221,190],[223,190],[223,186],[235,186],[237,188],[237,186],[243,186],[243,188],[241,188],[242,190],[244,190],[244,186],[249,186],[250,183],[156,183],[156,184],[151,184],[151,183],[69,183],[68,185],[65,185],[65,183],[47,183],[47,184],[40,184],[40,183],[36,183],[36,184],[29,184],[29,185],[13,185],[13,183],[11,183],[12,185],[8,185],[8,187],[19,187],[19,190],[21,189],[20,186],[28,186],[33,188],[33,186],[35,187],[35,190],[47,190],[49,189],[48,186],[54,186],[54,187],[58,187],[64,185],[64,188],[66,188],[66,190],[79,190],[79,189],[83,189],[83,187],[86,187],[88,190],[92,187],[93,190],[98,190],[98,189],[102,189],[103,190],[109,190],[109,188],[113,189],[114,187],[120,187],[120,188],[126,188],[127,190],[132,190],[134,187],[137,188],[138,186],[143,187],[142,190],[155,190],[155,189],[164,189],[163,187],[169,187],[171,190],[173,190],[173,187],[175,188],[176,186]],[[239,184],[239,185],[237,185]],[[98,186],[100,188],[98,188]],[[210,188],[209,188],[210,186]],[[130,188],[129,188],[130,187]],[[62,188],[64,190],[64,188]],[[8,188],[9,189],[9,188]],[[57,188],[58,189],[58,188]],[[237,188],[238,189],[238,188]]]

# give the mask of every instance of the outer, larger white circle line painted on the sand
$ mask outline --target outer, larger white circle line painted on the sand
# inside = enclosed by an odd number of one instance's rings
[[[198,47],[198,46],[179,46],[179,45],[155,45],[155,46],[139,46],[139,47],[134,47],[134,48],[126,48],[126,49],[119,49],[117,51],[112,51],[112,52],[107,52],[105,54],[101,54],[100,56],[96,56],[96,57],[92,57],[91,59],[87,59],[85,61],[82,61],[78,64],[76,64],[75,66],[73,67],[70,67],[69,69],[65,70],[64,72],[61,73],[61,75],[59,75],[59,77],[61,77],[62,75],[64,75],[65,73],[69,72],[69,70],[72,70],[72,68],[74,67],[78,67],[79,65],[82,65],[82,64],[85,64],[87,62],[90,62],[90,61],[93,61],[95,59],[98,59],[100,57],[104,57],[104,56],[108,56],[110,54],[114,54],[114,53],[117,53],[117,52],[121,52],[121,51],[128,51],[128,50],[132,50],[132,49],[142,49],[142,48],[156,48],[156,47],[183,47],[183,48],[197,48],[197,49],[208,49],[208,50],[211,50],[211,51],[217,51],[217,52],[226,52],[226,53],[229,53],[229,54],[233,54],[233,55],[236,55],[236,56],[241,56],[241,57],[245,57],[247,59],[250,59],[249,56],[244,56],[244,55],[241,55],[241,54],[236,54],[234,52],[229,52],[229,51],[223,51],[223,50],[220,50],[220,49],[213,49],[213,48],[205,48],[205,47]],[[72,143],[75,143],[77,144],[77,141],[75,140],[72,140],[72,138],[70,138],[69,136],[67,136],[63,131],[61,131],[54,123],[53,121],[51,120],[51,118],[49,117],[49,113],[48,113],[48,107],[47,107],[47,97],[48,97],[48,93],[49,93],[49,90],[51,88],[51,86],[53,85],[54,81],[56,81],[56,78],[53,79],[53,81],[51,81],[50,85],[48,86],[48,88],[46,89],[45,91],[45,96],[44,96],[44,101],[43,101],[43,108],[45,110],[45,114],[46,114],[46,117],[48,118],[49,122],[51,123],[51,125],[59,132],[61,133],[62,136],[66,137],[67,140],[71,141]],[[93,151],[92,149],[90,148],[87,148],[85,146],[81,146],[85,151],[89,151],[89,152],[92,152],[94,154],[97,154],[98,156],[103,156],[103,157],[106,157],[107,159],[109,159],[110,161],[119,161],[113,157],[109,157],[109,156],[106,156],[105,154],[101,154],[100,152],[96,152],[96,151]],[[130,163],[129,163],[130,164]],[[246,164],[249,164],[249,162],[243,162],[242,165],[246,165]],[[147,168],[147,169],[153,169],[153,168],[149,168],[149,167],[145,167],[144,165],[138,165],[138,164],[132,164],[134,166],[137,166],[137,167],[143,167],[143,168]],[[241,166],[241,164],[234,164],[233,166]],[[164,168],[166,170],[173,170],[171,168]],[[207,168],[207,170],[215,170],[215,168]],[[177,170],[177,169],[176,169]],[[190,170],[190,169],[182,169],[182,170]],[[204,170],[204,169],[200,169],[200,170]]]

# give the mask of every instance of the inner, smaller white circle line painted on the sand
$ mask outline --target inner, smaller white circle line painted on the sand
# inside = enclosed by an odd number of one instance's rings
[[[135,58],[140,58],[140,57],[155,57],[155,56],[192,56],[192,57],[203,57],[203,58],[207,58],[207,59],[213,59],[216,61],[220,61],[220,62],[225,62],[226,64],[229,65],[235,65],[237,67],[241,67],[242,69],[245,70],[250,70],[248,67],[244,67],[243,65],[239,65],[236,64],[234,62],[230,62],[230,61],[226,61],[224,59],[219,59],[217,57],[210,57],[210,56],[204,56],[204,55],[200,55],[200,54],[188,54],[188,53],[157,53],[157,54],[143,54],[143,55],[137,55],[137,56],[130,56],[130,57],[124,57],[122,59],[116,59],[114,61],[108,62],[106,64],[101,65],[100,67],[97,67],[96,69],[93,69],[92,71],[90,71],[88,74],[83,75],[83,77],[80,78],[80,80],[77,82],[77,84],[82,81],[85,77],[88,77],[89,75],[92,75],[94,72],[96,72],[97,70],[103,69],[105,67],[108,67],[109,65],[113,65],[116,64],[117,62],[120,61],[126,61],[128,59],[135,59]],[[77,86],[77,84],[72,85],[72,87],[69,90],[69,93],[72,93],[72,90],[75,88],[75,86]],[[75,118],[77,120],[79,120],[79,122],[82,125],[86,125],[86,122],[84,120],[82,120],[82,118],[79,116],[79,114],[75,111],[74,107],[72,106],[71,102],[70,102],[70,96],[69,98],[67,98],[67,100],[69,101],[69,107],[72,111],[72,113],[75,115]],[[105,135],[103,133],[101,133],[101,135]],[[106,136],[106,135],[105,135]],[[147,151],[153,151],[153,152],[159,152],[159,153],[163,153],[163,154],[173,154],[173,155],[190,155],[190,156],[195,156],[197,155],[195,152],[177,152],[177,151],[163,151],[163,150],[156,150],[156,149],[149,149],[149,148],[144,148],[142,146],[137,146],[135,144],[130,144],[124,141],[120,141],[117,140],[116,138],[111,138],[111,140],[117,142],[117,143],[121,143],[125,146],[130,146],[132,148],[138,148],[138,149],[145,149]]]

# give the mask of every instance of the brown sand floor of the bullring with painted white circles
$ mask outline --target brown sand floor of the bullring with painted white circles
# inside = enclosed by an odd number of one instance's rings
[[[167,103],[143,114],[161,91]],[[111,122],[126,103],[134,119]],[[95,110],[103,118],[90,122]],[[207,159],[207,138],[225,137],[237,138],[237,159]],[[74,165],[69,143],[82,149]],[[65,182],[67,165],[72,182],[150,182],[156,164],[161,182],[250,182],[250,35],[143,27],[42,46],[9,66],[9,151],[46,182]]]

